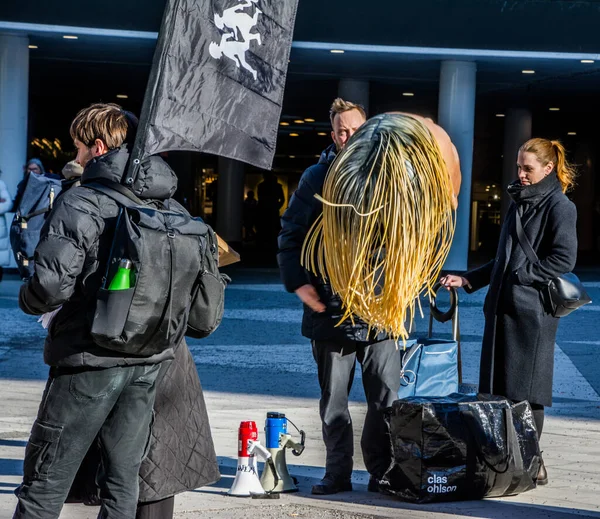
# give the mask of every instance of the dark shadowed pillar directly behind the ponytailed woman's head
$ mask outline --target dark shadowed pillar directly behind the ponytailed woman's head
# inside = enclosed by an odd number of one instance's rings
[[[517,153],[521,145],[531,139],[532,117],[527,108],[511,108],[504,118],[504,148],[502,158],[502,198],[501,217],[504,220],[510,206],[510,197],[506,193],[508,184],[517,178]]]

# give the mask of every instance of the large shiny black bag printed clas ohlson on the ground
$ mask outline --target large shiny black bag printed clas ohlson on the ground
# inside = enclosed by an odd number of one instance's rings
[[[519,494],[536,486],[540,450],[528,402],[452,394],[396,400],[385,413],[393,460],[381,489],[435,503]]]

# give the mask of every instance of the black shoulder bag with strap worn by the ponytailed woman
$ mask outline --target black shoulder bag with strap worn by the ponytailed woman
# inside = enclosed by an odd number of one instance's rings
[[[517,237],[521,247],[525,251],[529,261],[537,263],[539,258],[533,250],[529,239],[525,236],[518,210],[515,212],[515,221]],[[542,286],[541,293],[546,308],[554,317],[564,317],[572,311],[577,310],[580,306],[592,302],[585,288],[583,288],[581,281],[572,272],[567,272],[551,279],[547,284]]]

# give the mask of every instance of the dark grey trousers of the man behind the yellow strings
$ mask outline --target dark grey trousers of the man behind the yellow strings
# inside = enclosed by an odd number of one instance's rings
[[[326,473],[346,479],[352,474],[354,440],[348,395],[358,360],[367,398],[361,449],[367,470],[380,478],[391,462],[383,410],[397,400],[400,388],[400,353],[396,343],[391,340],[376,343],[313,341],[313,355],[321,386],[319,410],[327,450]]]

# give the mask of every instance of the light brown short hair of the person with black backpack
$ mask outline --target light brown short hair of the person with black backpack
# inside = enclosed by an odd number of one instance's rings
[[[127,116],[114,103],[95,103],[81,110],[71,123],[71,138],[91,147],[96,139],[109,150],[118,148],[127,137]]]

